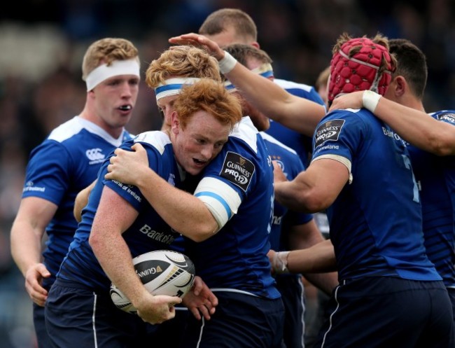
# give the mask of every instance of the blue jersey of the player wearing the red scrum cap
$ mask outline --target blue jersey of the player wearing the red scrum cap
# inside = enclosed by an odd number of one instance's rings
[[[404,142],[370,111],[337,110],[316,127],[313,161],[351,162],[328,208],[339,279],[391,276],[440,280],[423,246],[421,204]]]

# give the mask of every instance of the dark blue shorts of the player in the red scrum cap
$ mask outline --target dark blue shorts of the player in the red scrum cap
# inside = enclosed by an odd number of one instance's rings
[[[321,330],[322,348],[453,348],[451,303],[442,281],[349,279]]]

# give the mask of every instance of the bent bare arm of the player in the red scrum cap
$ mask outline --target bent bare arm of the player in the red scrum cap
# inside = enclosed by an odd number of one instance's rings
[[[275,181],[275,199],[289,209],[316,213],[335,201],[348,179],[349,170],[342,162],[313,160],[292,181]]]

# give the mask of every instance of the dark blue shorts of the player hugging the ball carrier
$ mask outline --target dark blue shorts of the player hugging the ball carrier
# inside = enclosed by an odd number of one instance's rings
[[[214,291],[218,298],[210,320],[188,316],[181,348],[279,348],[283,337],[281,298]]]

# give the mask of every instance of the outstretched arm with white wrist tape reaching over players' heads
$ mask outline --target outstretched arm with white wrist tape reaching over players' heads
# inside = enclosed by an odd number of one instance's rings
[[[235,85],[244,97],[255,108],[265,113],[269,118],[290,129],[312,137],[319,120],[325,115],[325,109],[316,102],[296,97],[283,90],[267,78],[254,74],[232,58],[228,64],[223,64],[225,51],[217,43],[199,34],[185,34],[169,39],[170,43],[195,44],[205,46],[220,63],[221,72]],[[229,57],[229,56],[226,56]],[[232,64],[232,65],[230,65]],[[231,70],[225,70],[228,67]]]

